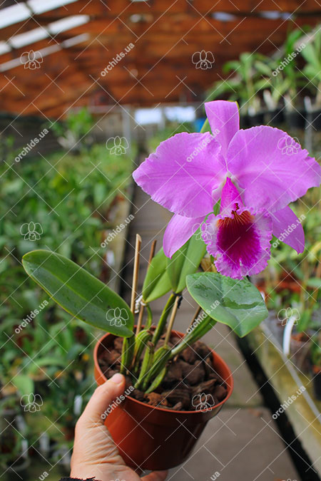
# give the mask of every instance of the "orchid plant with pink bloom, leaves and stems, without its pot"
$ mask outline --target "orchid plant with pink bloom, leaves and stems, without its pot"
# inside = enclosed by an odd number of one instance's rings
[[[123,337],[121,372],[147,393],[175,356],[216,322],[245,336],[265,319],[265,302],[248,276],[267,266],[272,235],[282,234],[283,242],[303,252],[302,225],[289,204],[320,185],[320,166],[287,133],[268,126],[240,130],[235,102],[216,100],[205,103],[205,110],[203,132],[168,138],[133,172],[138,185],[174,215],[163,247],[155,256],[151,252],[141,296],[138,236],[131,306],[61,255],[39,250],[23,258],[26,272],[63,309]],[[197,272],[206,250],[213,265]],[[199,309],[185,336],[169,346],[185,287]],[[154,325],[151,303],[168,292]]]

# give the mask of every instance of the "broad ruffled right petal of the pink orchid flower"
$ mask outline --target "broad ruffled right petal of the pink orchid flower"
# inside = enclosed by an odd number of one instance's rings
[[[321,168],[290,135],[268,126],[239,130],[228,148],[228,170],[245,205],[269,212],[320,185]]]

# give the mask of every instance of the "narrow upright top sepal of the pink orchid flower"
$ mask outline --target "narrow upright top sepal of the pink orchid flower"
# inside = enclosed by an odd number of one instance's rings
[[[214,100],[205,103],[205,112],[213,135],[222,146],[222,155],[226,155],[228,145],[240,129],[238,104],[228,100]]]

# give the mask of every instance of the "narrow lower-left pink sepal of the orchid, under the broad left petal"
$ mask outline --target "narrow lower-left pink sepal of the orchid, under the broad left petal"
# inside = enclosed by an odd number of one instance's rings
[[[197,231],[204,217],[185,217],[175,214],[168,222],[163,237],[163,249],[166,257],[171,258],[180,247]]]

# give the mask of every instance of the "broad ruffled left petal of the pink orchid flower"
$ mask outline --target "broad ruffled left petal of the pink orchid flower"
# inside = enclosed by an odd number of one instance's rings
[[[213,135],[179,133],[162,142],[133,172],[133,178],[171,212],[200,217],[213,210],[212,192],[225,171]]]

